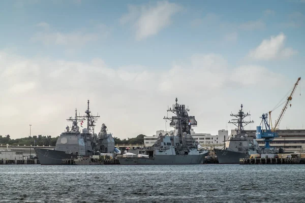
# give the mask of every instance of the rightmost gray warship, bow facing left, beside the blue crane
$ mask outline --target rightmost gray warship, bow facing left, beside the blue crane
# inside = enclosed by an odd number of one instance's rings
[[[256,139],[250,138],[243,130],[243,127],[254,121],[245,121],[249,113],[245,114],[240,106],[238,114],[231,114],[235,117],[228,123],[234,124],[237,128],[236,134],[232,135],[225,141],[223,149],[214,149],[219,163],[239,163],[240,158],[249,158],[251,154],[259,154],[260,148]]]

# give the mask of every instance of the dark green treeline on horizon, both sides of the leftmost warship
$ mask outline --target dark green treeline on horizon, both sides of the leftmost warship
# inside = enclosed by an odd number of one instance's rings
[[[11,139],[10,135],[7,134],[6,136],[0,136],[0,144],[2,145],[12,145],[12,146],[17,146],[17,145],[33,145],[34,146],[34,141],[35,141],[35,146],[56,146],[56,141],[57,138],[51,138],[51,136],[42,136],[41,134],[39,136],[33,136],[33,137],[28,137],[28,138],[19,138],[19,139]],[[117,145],[121,144],[139,144],[143,145],[144,144],[144,134],[139,134],[136,138],[127,138],[124,140],[121,140],[119,138],[113,137],[114,143]]]

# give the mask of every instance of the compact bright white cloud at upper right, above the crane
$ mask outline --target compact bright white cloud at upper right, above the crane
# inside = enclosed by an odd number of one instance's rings
[[[270,39],[263,40],[254,50],[251,50],[248,57],[257,60],[271,60],[277,58],[288,58],[297,53],[296,50],[285,45],[286,36],[280,33],[278,36],[271,36]]]

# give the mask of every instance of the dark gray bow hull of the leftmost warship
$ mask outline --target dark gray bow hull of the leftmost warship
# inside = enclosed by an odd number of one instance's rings
[[[41,165],[60,165],[62,159],[76,158],[76,155],[66,154],[64,151],[35,148]]]

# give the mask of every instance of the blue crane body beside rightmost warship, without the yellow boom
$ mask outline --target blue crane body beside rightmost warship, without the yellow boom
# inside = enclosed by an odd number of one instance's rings
[[[279,137],[278,132],[272,131],[267,120],[268,114],[263,114],[260,118],[262,119],[260,126],[256,127],[256,138],[264,139],[265,148],[270,148],[270,142]]]

